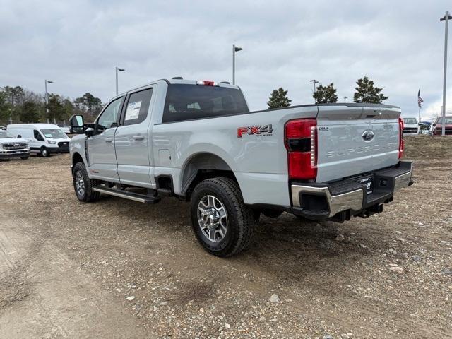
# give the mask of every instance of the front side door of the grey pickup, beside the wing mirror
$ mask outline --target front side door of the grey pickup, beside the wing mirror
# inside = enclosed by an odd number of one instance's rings
[[[119,182],[114,132],[117,129],[124,97],[110,102],[95,122],[95,133],[88,138],[90,177]]]

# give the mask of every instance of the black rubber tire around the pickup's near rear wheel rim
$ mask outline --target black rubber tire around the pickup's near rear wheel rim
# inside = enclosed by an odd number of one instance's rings
[[[218,242],[211,241],[198,222],[198,205],[206,196],[215,197],[227,212],[226,232]],[[254,230],[254,215],[253,210],[245,206],[236,182],[228,178],[206,179],[196,185],[191,195],[191,225],[198,242],[210,254],[233,256],[249,246]]]

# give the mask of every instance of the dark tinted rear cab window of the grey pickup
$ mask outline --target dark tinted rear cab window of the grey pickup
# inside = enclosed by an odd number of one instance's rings
[[[162,122],[249,112],[241,90],[208,85],[168,85]]]

